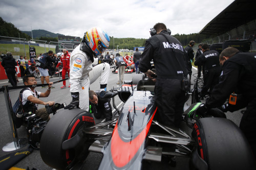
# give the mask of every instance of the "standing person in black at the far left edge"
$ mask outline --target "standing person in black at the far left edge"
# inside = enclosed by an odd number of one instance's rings
[[[18,78],[15,78],[15,66],[17,65],[16,60],[12,57],[11,52],[7,52],[6,55],[1,55],[1,65],[5,68],[6,76],[9,79],[12,86],[17,86]]]

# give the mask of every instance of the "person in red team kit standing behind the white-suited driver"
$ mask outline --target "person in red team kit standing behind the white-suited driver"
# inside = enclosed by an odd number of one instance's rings
[[[63,67],[62,67],[62,74],[61,74],[61,76],[62,76],[62,80],[63,80],[63,79],[65,79],[66,73],[68,72],[68,74],[69,74],[69,70],[70,70],[70,68],[69,68],[70,54],[69,54],[67,49],[63,49],[62,52],[63,52],[63,55],[61,56],[60,61],[57,64],[56,67],[58,68],[60,66],[60,64],[62,63]],[[69,85],[69,87],[70,87],[70,85]],[[63,81],[63,86],[60,87],[60,88],[66,88],[66,81]]]

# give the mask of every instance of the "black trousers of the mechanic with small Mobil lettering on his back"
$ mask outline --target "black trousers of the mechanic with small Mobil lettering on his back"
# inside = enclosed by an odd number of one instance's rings
[[[204,71],[204,85],[201,90],[201,95],[207,94],[208,89],[210,92],[212,88],[219,83],[220,68],[212,68]]]

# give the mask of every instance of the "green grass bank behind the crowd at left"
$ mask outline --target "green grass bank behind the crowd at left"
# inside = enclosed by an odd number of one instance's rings
[[[31,45],[31,46],[35,47],[36,55],[39,55],[40,53],[43,54],[49,51],[49,47],[47,45],[46,45],[46,50],[45,50],[45,47],[40,47],[35,45]],[[15,52],[14,47],[19,47],[19,52]],[[29,59],[29,45],[25,45],[25,50],[26,50],[26,56]],[[50,48],[50,50],[55,52],[55,48]],[[12,52],[13,56],[25,56],[24,44],[0,44],[0,54],[2,53],[6,54],[6,52]]]

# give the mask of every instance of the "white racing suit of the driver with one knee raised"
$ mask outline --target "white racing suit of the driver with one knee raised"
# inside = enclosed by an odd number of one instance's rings
[[[70,57],[70,92],[79,92],[79,107],[89,111],[89,86],[100,77],[100,84],[108,84],[110,65],[101,63],[92,67],[90,57],[80,51],[80,45]]]

